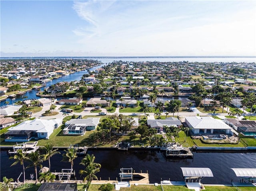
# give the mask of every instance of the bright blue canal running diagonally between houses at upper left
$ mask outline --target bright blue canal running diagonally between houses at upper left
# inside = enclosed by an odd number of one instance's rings
[[[92,67],[92,68],[90,68],[90,71],[94,71],[95,69],[98,69],[98,68],[100,68],[104,65],[106,65],[106,63],[102,64],[100,66]],[[49,87],[49,86],[51,86],[53,84],[56,84],[58,82],[80,81],[82,75],[84,75],[84,74],[88,74],[88,71],[87,70],[82,70],[82,71],[78,71],[78,72],[70,74],[70,75],[64,75],[64,76],[62,76],[58,79],[53,79],[52,81],[46,82],[46,87]],[[45,87],[42,87],[41,90],[44,91],[44,88]],[[6,100],[2,100],[0,102],[0,106],[6,105],[5,104],[6,101],[8,101],[9,104],[14,104],[18,100],[23,100],[24,96],[28,96],[28,98],[26,98],[26,99],[38,99],[40,97],[36,96],[36,92],[37,92],[36,90],[31,90],[31,91],[26,92],[24,95],[16,96],[15,98],[7,98]],[[58,97],[58,98],[62,99],[64,97]]]

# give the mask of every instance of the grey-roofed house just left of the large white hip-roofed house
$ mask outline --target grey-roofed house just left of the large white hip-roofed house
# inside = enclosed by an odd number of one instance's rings
[[[166,119],[148,119],[147,124],[150,128],[155,128],[157,132],[165,131],[164,126],[176,126],[182,125],[181,121],[175,117],[168,117]]]

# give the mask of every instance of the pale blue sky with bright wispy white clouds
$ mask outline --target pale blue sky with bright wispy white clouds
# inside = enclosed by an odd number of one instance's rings
[[[256,56],[255,0],[0,1],[0,56]]]

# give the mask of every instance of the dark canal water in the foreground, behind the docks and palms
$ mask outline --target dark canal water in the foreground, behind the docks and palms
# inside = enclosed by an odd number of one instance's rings
[[[61,151],[64,153],[64,151]],[[0,152],[1,173],[0,178],[6,176],[14,180],[22,172],[22,165],[17,164],[12,167],[13,159],[8,159],[6,151]],[[120,173],[120,168],[132,167],[135,172],[149,173],[150,183],[160,183],[162,180],[184,181],[180,167],[209,167],[214,177],[205,177],[202,183],[205,184],[230,184],[240,181],[234,171],[230,168],[256,168],[256,153],[220,153],[220,152],[195,152],[194,159],[166,159],[161,152],[156,151],[117,151],[117,150],[89,150],[88,154],[94,154],[95,162],[102,165],[97,177],[101,179],[115,180]],[[78,174],[84,166],[79,165],[82,157],[74,160],[74,170],[76,178],[82,179]],[[60,162],[62,155],[57,154],[51,158],[51,171],[61,171],[70,168],[70,163]],[[25,164],[26,166],[27,164]],[[43,163],[48,167],[48,161]],[[30,174],[34,174],[34,168],[26,169],[26,179],[30,179]],[[35,174],[34,174],[35,177]],[[120,178],[118,177],[120,181]],[[22,181],[22,176],[20,178]]]

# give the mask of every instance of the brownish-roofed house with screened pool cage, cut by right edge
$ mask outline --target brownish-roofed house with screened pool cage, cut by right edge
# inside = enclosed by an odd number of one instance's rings
[[[256,136],[256,121],[226,118],[225,123],[244,136]]]

